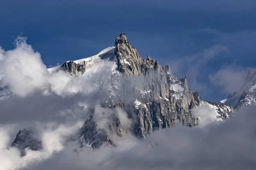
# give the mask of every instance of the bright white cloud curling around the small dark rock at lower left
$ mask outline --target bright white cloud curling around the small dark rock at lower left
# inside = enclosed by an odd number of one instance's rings
[[[6,129],[0,129],[0,170],[20,170],[29,167],[32,163],[38,163],[49,159],[53,153],[64,149],[64,144],[67,142],[66,138],[76,134],[81,128],[83,122],[79,121],[73,125],[55,125],[46,124],[36,127],[37,130],[41,130],[42,150],[30,150],[26,149],[26,155],[21,157],[20,151],[15,147],[9,147],[6,144],[7,139],[9,141],[10,134],[6,133]],[[4,139],[4,140],[3,140]]]

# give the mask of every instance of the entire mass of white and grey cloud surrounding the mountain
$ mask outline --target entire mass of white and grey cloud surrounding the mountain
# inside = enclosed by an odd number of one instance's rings
[[[106,74],[71,77],[62,71],[49,74],[38,52],[19,37],[12,51],[0,48],[2,85],[15,92],[0,102],[0,170],[251,170],[256,167],[255,106],[241,108],[224,122],[212,122],[212,108],[192,113],[206,120],[198,127],[176,126],[158,130],[147,139],[131,134],[116,137],[113,146],[79,150],[72,140],[97,106],[100,84]],[[108,73],[107,73],[108,74]],[[95,107],[96,121],[104,128],[109,109]],[[105,116],[101,116],[105,112]],[[125,126],[131,119],[121,109],[116,115]],[[99,114],[98,114],[99,113]],[[200,122],[199,122],[200,124]],[[41,150],[10,147],[18,130],[32,128]]]

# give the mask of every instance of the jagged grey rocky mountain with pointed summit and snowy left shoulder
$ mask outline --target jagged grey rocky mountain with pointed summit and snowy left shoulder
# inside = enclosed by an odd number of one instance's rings
[[[105,127],[99,127],[95,120],[107,113],[97,110],[94,105],[90,106],[86,110],[90,116],[79,134],[81,148],[93,149],[102,144],[115,146],[113,136],[122,137],[128,133],[146,138],[161,128],[196,126],[200,118],[192,115],[191,111],[197,107],[212,108],[216,120],[220,121],[233,114],[232,106],[201,99],[198,92],[189,89],[187,78],[177,78],[169,65],[161,66],[157,60],[149,56],[145,58],[142,59],[122,32],[116,37],[114,46],[99,54],[48,69],[49,72],[62,70],[70,76],[93,77],[95,69],[109,68],[102,75],[104,79],[96,81],[101,83],[98,93],[106,94],[97,100],[99,107],[108,109],[110,121]],[[120,119],[118,114],[121,111],[128,120]],[[22,140],[16,140],[15,145],[21,143],[17,141]]]

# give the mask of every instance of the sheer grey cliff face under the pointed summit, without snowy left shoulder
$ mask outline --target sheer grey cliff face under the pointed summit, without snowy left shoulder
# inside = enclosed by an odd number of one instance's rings
[[[176,124],[192,127],[197,125],[197,118],[190,110],[200,107],[202,102],[213,105],[221,119],[227,119],[233,113],[232,107],[201,100],[197,92],[192,93],[188,88],[186,77],[175,77],[169,65],[161,67],[157,60],[149,56],[142,59],[125,34],[116,38],[115,45],[116,70],[119,74],[111,75],[108,97],[101,100],[101,107],[122,108],[135,121],[133,128],[128,129],[113,114],[108,130],[103,131],[118,136],[131,131],[135,136],[146,137],[154,130]],[[87,122],[84,124],[86,126]],[[105,141],[109,142],[109,138],[105,138]]]

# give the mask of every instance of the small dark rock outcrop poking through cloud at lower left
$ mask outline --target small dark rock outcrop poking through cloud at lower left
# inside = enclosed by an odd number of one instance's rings
[[[42,145],[41,141],[34,136],[32,130],[23,129],[17,133],[14,142],[12,142],[12,147],[17,147],[20,150],[21,156],[24,156],[26,148],[40,150]]]

